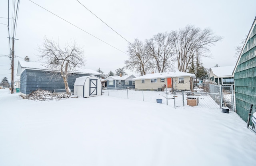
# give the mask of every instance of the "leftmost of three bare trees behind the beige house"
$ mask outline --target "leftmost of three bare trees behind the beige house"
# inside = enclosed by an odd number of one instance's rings
[[[145,45],[137,38],[128,46],[129,60],[125,60],[126,69],[132,70],[140,75],[145,75],[150,70],[150,57],[146,54]]]

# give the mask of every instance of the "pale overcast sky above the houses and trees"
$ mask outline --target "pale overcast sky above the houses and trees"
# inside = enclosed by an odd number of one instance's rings
[[[158,32],[178,30],[188,24],[202,29],[210,28],[216,35],[224,37],[221,42],[211,47],[212,58],[202,60],[204,67],[211,68],[216,64],[235,65],[235,46],[248,34],[256,16],[256,0],[79,0],[126,38],[124,40],[76,0],[32,1],[119,50],[29,0],[20,0],[15,35],[18,40],[14,44],[15,78],[18,60],[24,60],[28,56],[31,61],[37,61],[37,48],[42,45],[45,37],[59,41],[61,45],[76,40],[84,49],[85,68],[100,68],[104,74],[108,74],[110,70],[114,72],[117,68],[124,67],[124,60],[128,59],[128,55],[124,53],[127,53],[126,40],[133,42],[138,38],[144,41]],[[0,17],[4,17],[0,18],[0,80],[6,76],[10,81],[10,59],[5,56],[10,52],[8,28],[4,25],[8,24],[8,0],[0,2]],[[137,75],[132,71],[127,72]]]

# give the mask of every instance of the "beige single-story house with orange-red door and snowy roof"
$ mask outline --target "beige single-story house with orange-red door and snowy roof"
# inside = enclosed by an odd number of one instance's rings
[[[155,90],[160,91],[164,88],[174,90],[191,90],[190,82],[196,78],[195,74],[186,72],[162,72],[151,73],[144,76],[133,78],[136,90]]]

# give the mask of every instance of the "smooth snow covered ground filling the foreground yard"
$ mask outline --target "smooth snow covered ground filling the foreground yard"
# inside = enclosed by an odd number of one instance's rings
[[[235,112],[0,89],[0,166],[252,166],[255,154],[256,134]]]

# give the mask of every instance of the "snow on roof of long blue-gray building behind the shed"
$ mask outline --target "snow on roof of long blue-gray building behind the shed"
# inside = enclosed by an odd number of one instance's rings
[[[42,62],[19,61],[19,64],[20,65],[18,65],[18,70],[21,70],[21,69],[19,69],[19,67],[24,68],[24,69],[48,70],[46,67],[43,66]],[[17,70],[17,75],[18,75],[18,70]],[[81,69],[81,68],[77,68],[76,71],[74,71],[72,73],[95,74],[95,75],[100,75],[100,76],[104,75],[102,73],[96,72],[91,69]],[[20,74],[21,74],[21,72],[20,72]]]

